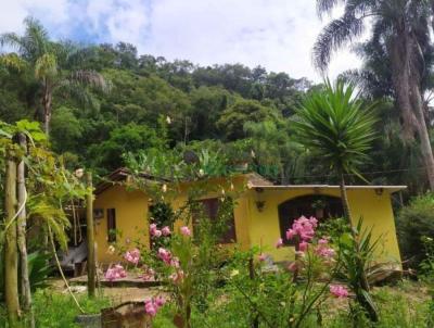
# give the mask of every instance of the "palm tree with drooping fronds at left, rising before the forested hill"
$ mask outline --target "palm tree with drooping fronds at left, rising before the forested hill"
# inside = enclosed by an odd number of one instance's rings
[[[50,40],[48,31],[36,20],[24,20],[24,36],[14,33],[0,35],[0,46],[14,48],[20,58],[7,54],[3,64],[29,70],[39,86],[43,109],[43,125],[49,135],[53,96],[56,92],[90,101],[86,86],[108,89],[104,77],[94,71],[82,70],[82,61],[89,49],[81,49],[71,42],[56,43]]]

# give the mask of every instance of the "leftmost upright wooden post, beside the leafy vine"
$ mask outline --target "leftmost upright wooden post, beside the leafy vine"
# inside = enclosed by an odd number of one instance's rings
[[[4,300],[11,328],[20,327],[18,253],[16,247],[16,163],[11,149],[7,150],[5,173],[5,241],[4,241]]]

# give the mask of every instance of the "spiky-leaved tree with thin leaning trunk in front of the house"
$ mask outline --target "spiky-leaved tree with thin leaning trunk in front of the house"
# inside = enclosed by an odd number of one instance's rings
[[[353,268],[358,273],[354,286],[358,302],[367,310],[370,318],[378,320],[378,314],[369,297],[369,283],[365,272],[362,241],[357,235],[360,223],[355,228],[345,187],[345,174],[360,176],[357,167],[367,161],[367,152],[375,138],[373,106],[366,106],[353,85],[337,80],[334,86],[326,83],[322,90],[308,94],[296,111],[293,119],[295,137],[318,159],[330,165],[340,177],[341,199],[345,217],[350,226],[354,256],[357,262]]]

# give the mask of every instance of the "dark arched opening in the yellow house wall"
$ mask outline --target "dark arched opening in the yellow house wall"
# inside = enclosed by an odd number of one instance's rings
[[[286,230],[292,226],[294,219],[302,215],[315,216],[319,222],[330,217],[342,217],[344,210],[339,197],[324,194],[308,194],[290,199],[279,205],[280,236],[285,244],[293,244],[286,240]]]

